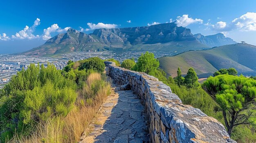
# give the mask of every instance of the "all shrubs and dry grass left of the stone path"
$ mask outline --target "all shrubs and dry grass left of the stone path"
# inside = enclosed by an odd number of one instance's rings
[[[69,62],[63,70],[31,64],[0,90],[0,142],[74,143],[94,118],[110,84],[103,60]]]

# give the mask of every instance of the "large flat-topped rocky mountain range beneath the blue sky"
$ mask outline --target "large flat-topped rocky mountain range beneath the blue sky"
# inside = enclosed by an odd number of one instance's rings
[[[175,23],[131,28],[96,29],[91,34],[85,34],[75,29],[68,29],[67,33],[58,34],[47,40],[45,44],[26,51],[23,54],[52,56],[74,51],[95,50],[160,50],[182,53],[190,50],[207,49],[215,45],[228,44],[226,42],[227,38],[225,39],[225,36],[224,38],[223,36],[219,38],[220,36],[214,35],[212,37],[199,34],[193,35],[190,29],[178,27]]]

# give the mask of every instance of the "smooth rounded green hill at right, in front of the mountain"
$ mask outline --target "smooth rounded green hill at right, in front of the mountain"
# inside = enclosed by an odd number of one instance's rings
[[[159,58],[160,68],[175,77],[180,67],[186,74],[193,67],[199,77],[208,77],[220,68],[236,68],[238,74],[256,75],[256,46],[225,45],[210,50],[188,51],[172,57]]]

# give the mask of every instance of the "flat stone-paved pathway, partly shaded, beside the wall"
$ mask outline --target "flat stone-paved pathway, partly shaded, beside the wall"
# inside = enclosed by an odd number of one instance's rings
[[[148,143],[146,119],[137,95],[114,85],[89,127],[90,134],[83,135],[80,143]]]

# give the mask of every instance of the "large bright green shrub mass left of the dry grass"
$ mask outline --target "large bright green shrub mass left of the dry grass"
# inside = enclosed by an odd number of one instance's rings
[[[53,113],[67,114],[63,106],[66,110],[72,108],[75,91],[74,81],[63,77],[53,64],[47,68],[42,64],[41,69],[39,65],[30,64],[27,70],[18,72],[0,90],[1,142],[11,139],[15,132],[29,135],[38,121]]]

